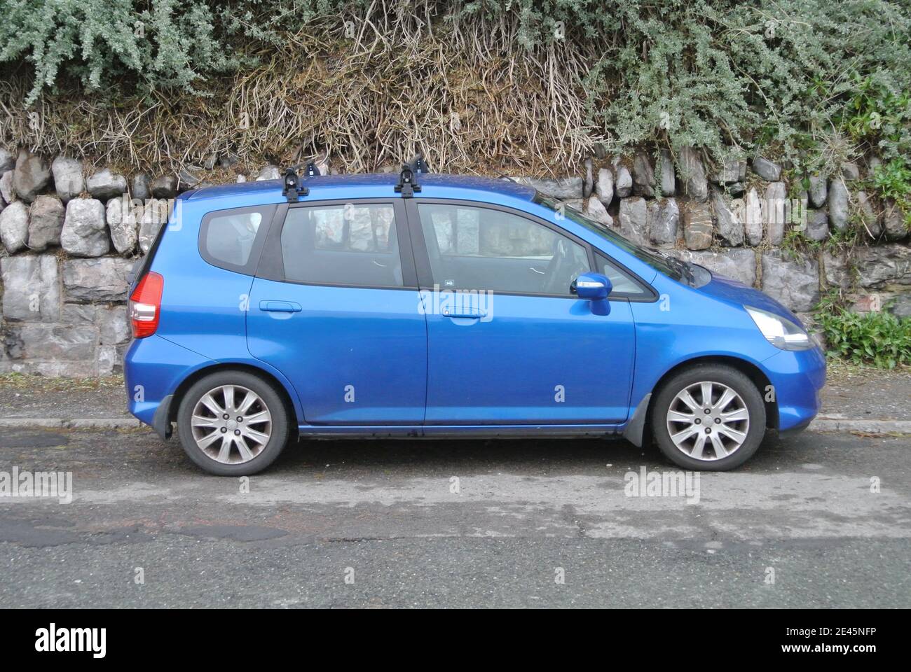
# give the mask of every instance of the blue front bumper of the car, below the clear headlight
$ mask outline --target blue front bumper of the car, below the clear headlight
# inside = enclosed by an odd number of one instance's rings
[[[822,408],[825,385],[825,358],[818,348],[804,351],[781,351],[763,361],[763,370],[772,390],[763,391],[768,401],[770,392],[778,406],[778,431],[804,429]]]

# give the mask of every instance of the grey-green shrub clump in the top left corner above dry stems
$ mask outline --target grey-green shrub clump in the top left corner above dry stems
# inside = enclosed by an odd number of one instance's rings
[[[210,6],[211,5],[211,6]],[[244,60],[227,40],[230,14],[198,0],[0,0],[0,63],[24,60],[34,73],[26,103],[60,79],[89,91],[123,87],[197,92],[208,76]]]

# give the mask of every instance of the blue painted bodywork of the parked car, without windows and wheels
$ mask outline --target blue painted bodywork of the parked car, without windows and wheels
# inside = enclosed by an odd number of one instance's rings
[[[305,179],[311,195],[302,201],[397,199],[396,180]],[[281,182],[203,188],[177,199],[147,269],[165,279],[161,317],[155,335],[128,349],[129,411],[150,424],[181,383],[241,365],[278,382],[301,432],[318,436],[614,433],[675,367],[730,358],[768,380],[779,429],[818,412],[824,357],[766,341],[744,305],[799,321],[761,291],[720,276],[699,288],[672,280],[597,232],[558,219],[533,200],[534,189],[511,181],[425,175],[421,186],[415,201],[474,201],[557,224],[638,276],[656,299],[611,299],[603,315],[586,300],[496,294],[484,320],[440,314],[427,305],[426,287],[317,286],[226,270],[200,257],[200,222],[213,211],[279,206]]]

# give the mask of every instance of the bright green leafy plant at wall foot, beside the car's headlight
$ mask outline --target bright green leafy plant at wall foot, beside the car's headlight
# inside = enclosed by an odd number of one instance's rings
[[[817,313],[817,320],[832,357],[881,369],[911,364],[911,318],[885,311],[858,314],[829,305]]]

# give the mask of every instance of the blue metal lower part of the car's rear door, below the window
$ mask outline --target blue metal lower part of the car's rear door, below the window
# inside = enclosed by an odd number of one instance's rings
[[[301,311],[264,311],[264,300]],[[308,424],[421,424],[427,328],[418,291],[253,282],[251,355],[288,372]]]

